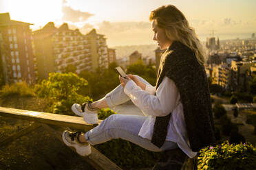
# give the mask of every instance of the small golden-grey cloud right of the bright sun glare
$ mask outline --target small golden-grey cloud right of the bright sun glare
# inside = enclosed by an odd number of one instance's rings
[[[74,10],[70,6],[63,5],[63,21],[71,21],[73,23],[87,21],[89,17],[94,16],[89,12],[81,12],[80,10]]]

